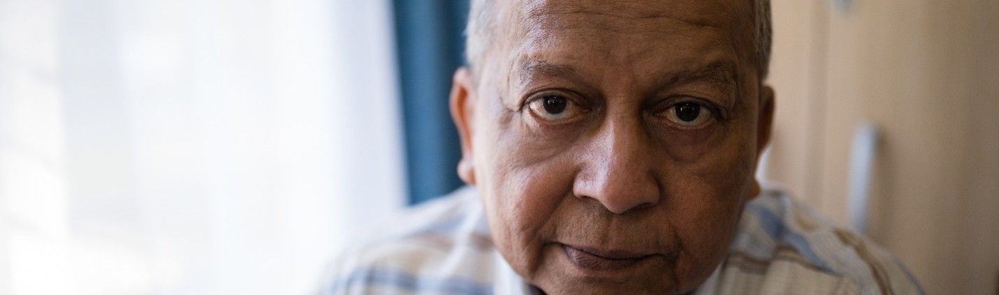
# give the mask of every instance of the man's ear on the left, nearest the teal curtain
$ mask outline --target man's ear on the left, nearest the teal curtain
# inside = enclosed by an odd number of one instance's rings
[[[462,67],[455,71],[451,86],[451,118],[458,127],[462,140],[462,159],[458,162],[458,176],[470,185],[476,185],[476,167],[473,162],[473,115],[475,114],[475,81],[472,72]]]

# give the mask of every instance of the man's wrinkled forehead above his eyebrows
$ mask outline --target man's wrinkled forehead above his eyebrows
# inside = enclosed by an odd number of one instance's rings
[[[499,22],[505,50],[499,61],[507,73],[545,54],[574,59],[613,54],[637,64],[657,58],[652,64],[661,65],[674,62],[663,58],[717,56],[725,49],[735,62],[748,62],[753,53],[752,3],[747,0],[503,3]]]

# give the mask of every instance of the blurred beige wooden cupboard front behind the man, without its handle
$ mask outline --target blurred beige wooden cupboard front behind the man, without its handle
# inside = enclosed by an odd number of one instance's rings
[[[774,0],[771,179],[845,224],[850,140],[873,121],[868,234],[930,294],[995,294],[999,1]]]

